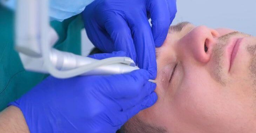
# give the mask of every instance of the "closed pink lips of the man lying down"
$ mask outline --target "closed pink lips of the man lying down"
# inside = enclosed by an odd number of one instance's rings
[[[239,49],[240,43],[243,38],[236,38],[234,43],[231,44],[231,52],[230,52],[230,66],[229,66],[229,71],[233,65],[234,59],[236,57],[237,51]]]

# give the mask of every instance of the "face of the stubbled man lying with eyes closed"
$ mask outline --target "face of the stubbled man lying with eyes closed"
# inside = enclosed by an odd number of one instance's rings
[[[156,55],[158,100],[137,118],[170,133],[255,132],[256,37],[183,22]]]

